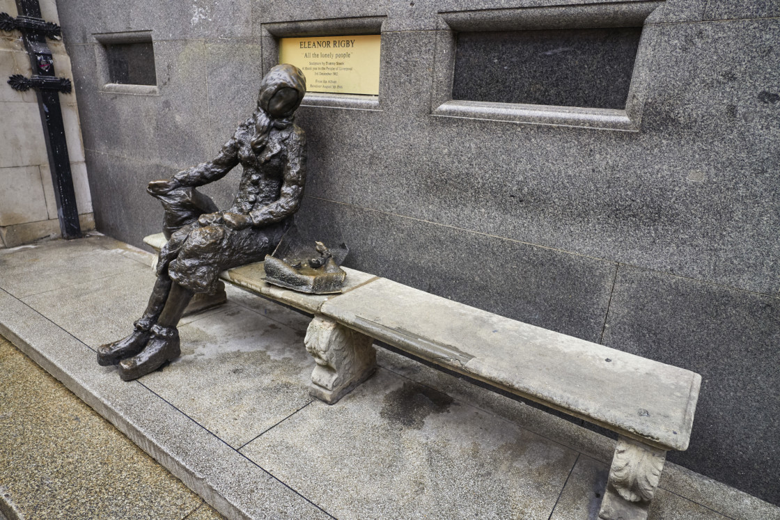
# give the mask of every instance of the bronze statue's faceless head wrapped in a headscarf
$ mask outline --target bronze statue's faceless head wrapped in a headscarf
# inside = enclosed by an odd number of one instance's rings
[[[257,108],[273,119],[285,119],[293,115],[306,94],[306,76],[289,63],[275,65],[268,71],[260,85]]]

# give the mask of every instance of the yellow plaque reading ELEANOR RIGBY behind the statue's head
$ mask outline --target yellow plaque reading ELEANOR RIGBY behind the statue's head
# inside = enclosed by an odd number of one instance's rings
[[[279,39],[279,63],[306,75],[309,92],[379,94],[380,35]]]

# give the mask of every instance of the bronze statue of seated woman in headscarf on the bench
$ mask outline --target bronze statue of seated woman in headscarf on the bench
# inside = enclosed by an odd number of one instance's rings
[[[176,359],[179,323],[196,292],[214,292],[225,269],[263,260],[282,239],[298,210],[306,178],[306,137],[293,123],[306,79],[293,65],[276,65],[263,78],[257,110],[213,161],[152,181],[154,196],[190,190],[243,167],[238,194],[226,211],[201,214],[172,232],[160,251],[157,281],[133,332],[97,348],[97,363],[119,365],[133,380]]]

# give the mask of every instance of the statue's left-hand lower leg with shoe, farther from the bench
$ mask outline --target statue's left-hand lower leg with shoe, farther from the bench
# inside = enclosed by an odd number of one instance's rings
[[[171,278],[168,273],[161,274],[154,282],[144,316],[133,324],[133,332],[126,338],[97,347],[97,363],[101,366],[110,366],[119,363],[122,359],[135,356],[146,346],[151,338],[151,327],[157,323],[158,317],[168,301],[168,293],[171,291]]]

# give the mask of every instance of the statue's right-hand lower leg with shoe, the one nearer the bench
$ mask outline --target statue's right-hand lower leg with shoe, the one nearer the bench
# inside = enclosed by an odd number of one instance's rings
[[[193,297],[193,292],[174,282],[168,294],[168,301],[162,310],[157,324],[151,327],[151,338],[146,348],[119,363],[119,377],[122,380],[133,380],[154,372],[166,361],[173,361],[181,354],[179,347],[179,324],[187,304]]]

